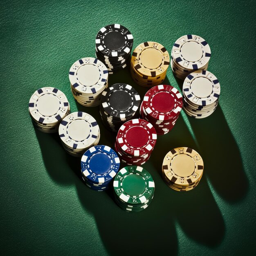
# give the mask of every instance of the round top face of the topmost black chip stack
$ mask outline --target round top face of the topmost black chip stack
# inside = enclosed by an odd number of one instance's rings
[[[130,31],[119,24],[101,28],[96,36],[96,48],[105,56],[121,57],[130,54],[133,37]]]

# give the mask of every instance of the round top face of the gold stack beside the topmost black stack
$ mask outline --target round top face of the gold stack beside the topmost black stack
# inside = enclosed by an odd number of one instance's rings
[[[138,45],[132,53],[131,65],[141,76],[155,77],[166,72],[170,56],[165,47],[156,42]]]

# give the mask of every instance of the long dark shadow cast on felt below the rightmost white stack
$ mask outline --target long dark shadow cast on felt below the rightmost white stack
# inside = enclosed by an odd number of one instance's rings
[[[183,81],[176,77],[175,79],[182,91]],[[243,200],[249,183],[240,150],[220,105],[218,104],[209,117],[186,117],[200,147],[200,154],[204,160],[204,174],[209,178],[213,189],[228,202]]]

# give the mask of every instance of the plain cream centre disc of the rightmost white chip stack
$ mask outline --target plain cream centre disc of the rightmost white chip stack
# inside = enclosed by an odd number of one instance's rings
[[[191,91],[198,98],[207,98],[213,91],[213,83],[206,77],[197,77],[191,83]]]

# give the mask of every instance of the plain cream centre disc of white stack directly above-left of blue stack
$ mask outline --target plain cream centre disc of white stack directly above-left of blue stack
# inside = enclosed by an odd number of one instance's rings
[[[90,126],[87,121],[77,119],[69,124],[67,133],[75,141],[83,141],[90,134]]]

